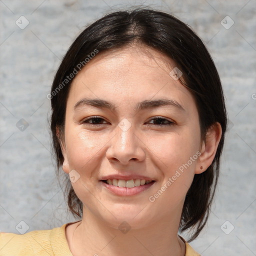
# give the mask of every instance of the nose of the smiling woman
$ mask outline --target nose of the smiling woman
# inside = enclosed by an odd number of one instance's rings
[[[116,126],[115,135],[110,140],[105,156],[109,161],[116,161],[128,165],[131,160],[142,161],[145,158],[144,143],[135,131],[134,125]],[[127,128],[128,127],[128,128]],[[136,132],[136,134],[135,134]]]

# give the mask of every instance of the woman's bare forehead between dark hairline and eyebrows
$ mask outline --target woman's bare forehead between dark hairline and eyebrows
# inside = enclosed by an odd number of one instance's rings
[[[74,77],[68,101],[74,106],[83,97],[98,97],[135,106],[145,99],[169,96],[188,107],[192,95],[169,75],[174,67],[168,56],[147,46],[99,52]]]

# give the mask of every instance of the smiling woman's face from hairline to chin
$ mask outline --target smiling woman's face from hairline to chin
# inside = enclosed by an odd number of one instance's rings
[[[146,46],[125,47],[99,52],[72,81],[63,170],[84,210],[109,226],[180,217],[198,169],[200,127],[174,67]]]

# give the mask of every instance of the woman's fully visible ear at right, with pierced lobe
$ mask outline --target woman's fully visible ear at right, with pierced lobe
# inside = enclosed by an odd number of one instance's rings
[[[207,129],[205,141],[202,141],[201,154],[196,162],[195,174],[202,173],[212,163],[221,138],[221,133],[222,129],[219,122],[216,122]]]

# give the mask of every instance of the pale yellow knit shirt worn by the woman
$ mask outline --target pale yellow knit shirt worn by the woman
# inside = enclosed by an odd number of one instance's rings
[[[73,256],[65,236],[68,224],[25,234],[0,232],[0,256]],[[185,242],[185,256],[200,256],[181,236],[180,238]]]

